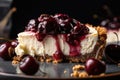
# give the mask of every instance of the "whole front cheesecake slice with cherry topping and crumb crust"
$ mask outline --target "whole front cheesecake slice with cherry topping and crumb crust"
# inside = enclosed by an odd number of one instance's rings
[[[42,14],[18,34],[15,59],[31,55],[39,61],[85,62],[97,52],[101,59],[106,37],[103,27],[82,24],[66,14]]]

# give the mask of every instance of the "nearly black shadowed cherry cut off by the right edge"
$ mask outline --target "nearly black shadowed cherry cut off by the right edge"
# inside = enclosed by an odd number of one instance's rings
[[[109,44],[105,48],[105,58],[109,63],[120,62],[120,45]]]

